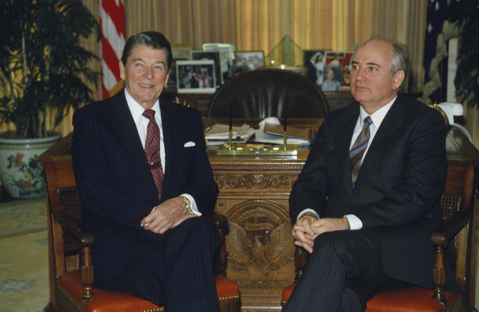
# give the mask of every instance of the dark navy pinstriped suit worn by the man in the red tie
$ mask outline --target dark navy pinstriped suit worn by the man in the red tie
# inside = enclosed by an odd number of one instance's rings
[[[218,186],[200,114],[161,99],[160,112],[166,154],[161,201],[188,193],[200,212],[211,213]],[[140,225],[159,204],[158,191],[124,90],[78,109],[73,126],[83,220],[95,237],[95,285],[166,305],[167,311],[219,311],[212,264],[219,247],[215,226],[204,217],[165,234]],[[188,142],[195,145],[185,147]]]

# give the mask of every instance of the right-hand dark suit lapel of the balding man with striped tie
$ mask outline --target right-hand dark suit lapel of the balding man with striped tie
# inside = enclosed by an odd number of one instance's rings
[[[381,154],[393,141],[394,138],[399,135],[398,128],[404,123],[404,113],[406,109],[406,103],[401,101],[400,96],[393,103],[389,112],[384,117],[381,126],[374,136],[373,142],[369,147],[364,161],[359,169],[358,178],[356,179],[356,185],[361,183],[362,180],[374,169],[374,167],[381,160]]]

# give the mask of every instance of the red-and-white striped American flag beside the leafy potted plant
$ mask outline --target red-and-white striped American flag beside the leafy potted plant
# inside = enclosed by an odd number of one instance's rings
[[[123,0],[101,0],[102,91],[106,99],[123,88],[119,61],[125,46],[125,8]]]

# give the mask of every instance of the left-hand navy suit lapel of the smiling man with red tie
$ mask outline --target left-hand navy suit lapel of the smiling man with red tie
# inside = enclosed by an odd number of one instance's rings
[[[131,158],[130,164],[137,167],[140,176],[145,176],[150,180],[145,184],[151,188],[152,192],[156,192],[156,197],[158,197],[158,191],[150,168],[148,167],[148,161],[146,160],[145,151],[141,144],[140,136],[138,135],[138,129],[126,103],[124,91],[120,91],[112,97],[112,101],[109,102],[109,105],[108,110],[111,112],[109,114],[109,123],[111,129],[116,133],[119,142],[123,144],[126,153],[129,154]]]

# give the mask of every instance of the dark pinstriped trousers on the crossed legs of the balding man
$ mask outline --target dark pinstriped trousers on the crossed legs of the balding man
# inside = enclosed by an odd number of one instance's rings
[[[409,287],[384,272],[378,235],[378,229],[362,229],[316,237],[306,270],[282,311],[365,311],[378,291]]]

